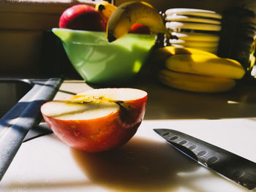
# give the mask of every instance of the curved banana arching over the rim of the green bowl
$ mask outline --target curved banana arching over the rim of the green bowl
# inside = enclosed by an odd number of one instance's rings
[[[107,36],[108,41],[113,42],[128,33],[134,23],[148,26],[153,33],[170,33],[157,9],[144,1],[128,1],[113,12],[108,19]]]

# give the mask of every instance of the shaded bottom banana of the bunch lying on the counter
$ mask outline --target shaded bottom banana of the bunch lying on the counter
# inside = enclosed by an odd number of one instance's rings
[[[236,85],[236,81],[224,77],[211,77],[199,74],[187,74],[162,69],[158,74],[159,80],[172,88],[184,91],[201,93],[219,93],[230,91]]]

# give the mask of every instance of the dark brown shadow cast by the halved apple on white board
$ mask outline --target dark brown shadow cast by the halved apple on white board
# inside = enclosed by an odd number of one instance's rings
[[[177,175],[179,172],[199,168],[170,145],[140,137],[105,153],[70,150],[86,177],[111,191],[173,191],[189,185]]]

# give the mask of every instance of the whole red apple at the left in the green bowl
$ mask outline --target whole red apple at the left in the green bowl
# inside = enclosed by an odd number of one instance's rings
[[[59,28],[106,31],[106,22],[94,7],[87,4],[77,4],[62,13],[59,19]]]

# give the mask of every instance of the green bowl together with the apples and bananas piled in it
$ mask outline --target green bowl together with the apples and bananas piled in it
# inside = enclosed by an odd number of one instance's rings
[[[88,5],[84,9],[71,7],[76,11],[72,11],[71,16],[65,11],[63,15],[69,16],[63,20],[78,25],[60,25],[52,31],[61,39],[69,61],[86,82],[107,87],[124,85],[134,80],[146,64],[156,34],[167,29],[157,10],[146,2],[130,1],[120,7],[105,3],[104,6],[96,6],[96,9]],[[97,12],[102,23],[108,22],[108,29],[92,30],[88,24],[75,20],[91,21],[88,14],[91,12]],[[62,16],[60,23],[61,20]],[[80,25],[84,25],[84,30],[77,27]]]

